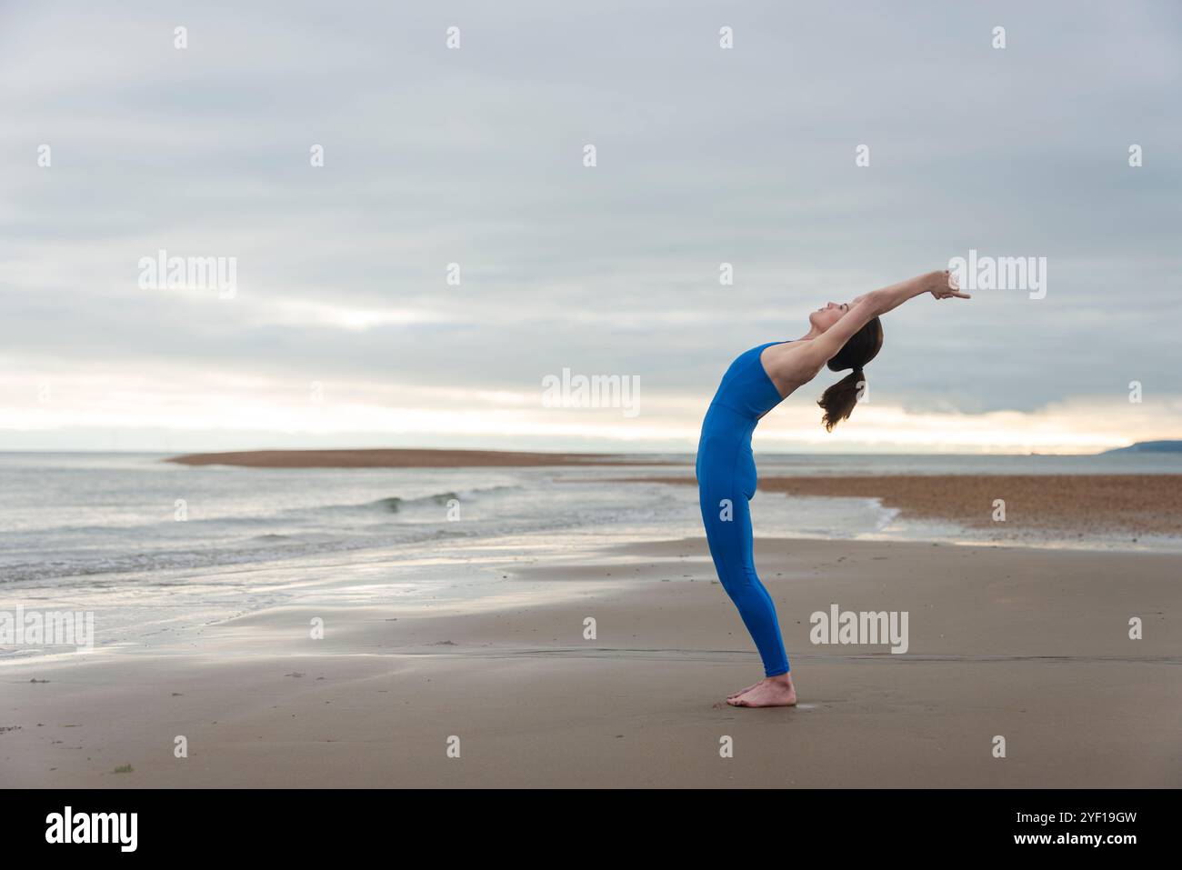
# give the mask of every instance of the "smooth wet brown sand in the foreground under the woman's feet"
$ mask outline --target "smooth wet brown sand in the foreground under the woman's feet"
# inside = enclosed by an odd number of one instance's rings
[[[0,786],[1182,786],[1180,557],[774,539],[756,557],[797,708],[721,703],[761,670],[699,540],[543,558],[473,612],[383,602],[369,566],[369,604],[0,667]],[[811,643],[832,603],[908,611],[908,651]]]

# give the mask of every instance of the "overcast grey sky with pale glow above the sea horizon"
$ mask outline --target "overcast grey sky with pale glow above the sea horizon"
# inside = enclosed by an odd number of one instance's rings
[[[759,446],[1182,437],[1180,105],[1165,0],[0,2],[0,449],[693,450],[735,355],[970,248],[1046,297],[909,303]]]

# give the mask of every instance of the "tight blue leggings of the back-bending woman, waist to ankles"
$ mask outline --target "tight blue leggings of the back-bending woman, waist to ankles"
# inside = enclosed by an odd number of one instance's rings
[[[719,579],[739,609],[764,660],[764,674],[787,674],[775,604],[755,573],[751,506],[758,478],[751,452],[755,420],[723,405],[712,405],[697,448],[697,492],[706,540]]]

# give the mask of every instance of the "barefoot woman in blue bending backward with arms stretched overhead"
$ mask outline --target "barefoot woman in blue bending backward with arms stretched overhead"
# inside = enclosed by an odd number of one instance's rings
[[[797,702],[775,605],[759,582],[752,559],[747,505],[756,482],[752,431],[760,417],[817,377],[825,365],[833,371],[852,371],[820,397],[821,422],[832,431],[838,422],[849,418],[865,390],[862,369],[883,344],[879,314],[923,293],[936,299],[969,298],[946,271],[876,290],[849,304],[830,303],[808,316],[808,332],[804,336],[752,348],[722,376],[697,444],[699,499],[719,579],[764,660],[764,679],[727,699],[734,707],[791,707]]]

